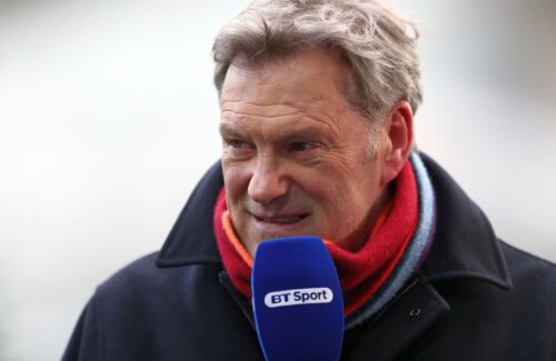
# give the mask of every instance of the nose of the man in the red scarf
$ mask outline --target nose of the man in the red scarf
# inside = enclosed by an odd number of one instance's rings
[[[247,193],[258,203],[269,203],[288,193],[289,181],[277,160],[259,157],[252,170]]]

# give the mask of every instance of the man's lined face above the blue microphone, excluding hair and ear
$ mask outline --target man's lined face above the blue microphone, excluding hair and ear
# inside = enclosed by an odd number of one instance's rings
[[[385,134],[346,98],[350,70],[315,49],[231,66],[221,93],[222,170],[236,233],[254,255],[270,238],[319,235],[346,249],[367,237],[384,189]]]

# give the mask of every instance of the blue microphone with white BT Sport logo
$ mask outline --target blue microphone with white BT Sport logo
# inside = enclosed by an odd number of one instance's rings
[[[336,267],[318,237],[261,242],[251,274],[262,352],[275,360],[338,360],[344,299]]]

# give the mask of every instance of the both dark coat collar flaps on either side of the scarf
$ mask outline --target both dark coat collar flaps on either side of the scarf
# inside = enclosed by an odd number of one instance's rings
[[[437,228],[423,272],[430,282],[475,278],[510,288],[506,262],[483,211],[434,160],[420,154],[437,201]],[[197,184],[157,258],[158,267],[221,263],[212,227],[224,185],[220,162]]]

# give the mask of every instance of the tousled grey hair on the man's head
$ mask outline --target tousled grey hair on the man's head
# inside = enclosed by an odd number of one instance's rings
[[[221,93],[237,58],[256,62],[307,47],[340,50],[353,69],[356,104],[375,116],[398,100],[421,102],[416,27],[381,0],[255,0],[226,24],[212,46]]]

